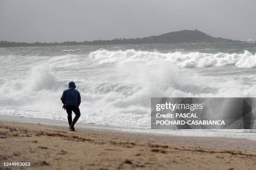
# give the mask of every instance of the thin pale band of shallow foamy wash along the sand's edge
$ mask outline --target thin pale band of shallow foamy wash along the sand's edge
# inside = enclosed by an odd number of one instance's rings
[[[9,116],[1,115],[0,120],[14,121],[14,122],[24,122],[33,124],[44,124],[52,126],[63,126],[67,127],[67,120],[52,120],[46,118],[33,118],[33,117],[23,117],[23,116]],[[112,125],[97,125],[94,123],[82,123],[77,122],[76,127],[82,129],[94,129],[94,130],[110,130],[120,133],[145,133],[152,135],[167,135],[167,136],[183,136],[183,137],[216,137],[216,138],[232,138],[232,139],[247,139],[256,141],[256,129],[143,129],[143,128],[128,128],[119,127]]]

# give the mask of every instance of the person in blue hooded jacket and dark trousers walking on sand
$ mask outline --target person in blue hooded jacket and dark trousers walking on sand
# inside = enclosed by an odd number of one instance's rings
[[[64,104],[63,108],[67,110],[69,130],[74,131],[74,124],[80,117],[79,105],[81,103],[81,97],[78,90],[75,89],[76,85],[74,82],[69,82],[69,88],[64,90],[61,101]],[[75,113],[74,120],[72,121],[72,111]]]

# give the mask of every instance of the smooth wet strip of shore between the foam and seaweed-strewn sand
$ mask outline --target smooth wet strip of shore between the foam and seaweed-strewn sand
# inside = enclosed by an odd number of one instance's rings
[[[19,116],[0,115],[0,122],[17,122],[26,123],[28,125],[40,125],[48,128],[55,128],[57,130],[68,130],[66,121],[50,120],[41,118],[28,118]],[[95,133],[99,135],[110,135],[117,137],[129,137],[133,140],[152,140],[158,143],[175,144],[175,145],[194,145],[195,147],[204,148],[218,148],[218,149],[239,149],[245,151],[256,152],[256,140],[249,140],[246,138],[229,138],[229,137],[212,137],[212,136],[184,136],[184,135],[169,135],[161,133],[148,133],[143,131],[136,131],[136,129],[122,128],[107,125],[95,125],[88,123],[79,123],[75,125],[76,131],[74,133]],[[134,131],[132,131],[134,130]],[[179,132],[179,130],[177,130]],[[203,133],[203,132],[201,132]],[[254,135],[255,133],[250,133]],[[224,145],[225,144],[225,145]]]

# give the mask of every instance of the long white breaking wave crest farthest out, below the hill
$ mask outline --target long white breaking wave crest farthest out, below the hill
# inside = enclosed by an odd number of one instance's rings
[[[241,54],[233,53],[200,53],[200,52],[148,52],[148,51],[136,51],[136,50],[97,50],[90,53],[89,60],[96,62],[97,64],[104,63],[117,63],[128,61],[140,61],[140,62],[164,62],[172,63],[179,67],[210,67],[210,66],[224,66],[234,64],[237,67],[256,67],[256,55],[246,51]]]

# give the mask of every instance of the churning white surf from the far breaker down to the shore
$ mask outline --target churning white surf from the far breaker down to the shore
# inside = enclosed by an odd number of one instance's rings
[[[12,56],[0,66],[0,114],[66,120],[60,96],[74,80],[79,122],[150,128],[151,97],[255,97],[256,86],[195,68],[255,67],[255,55],[96,50],[89,55]],[[185,68],[184,68],[185,67]],[[189,67],[189,68],[186,68]],[[217,68],[218,67],[210,67]],[[221,67],[220,67],[221,68]],[[250,68],[251,69],[251,68]],[[17,70],[20,70],[17,72]],[[212,72],[212,71],[211,71]],[[9,74],[10,73],[10,74]],[[246,75],[247,76],[247,75]],[[248,79],[251,79],[249,77]]]

